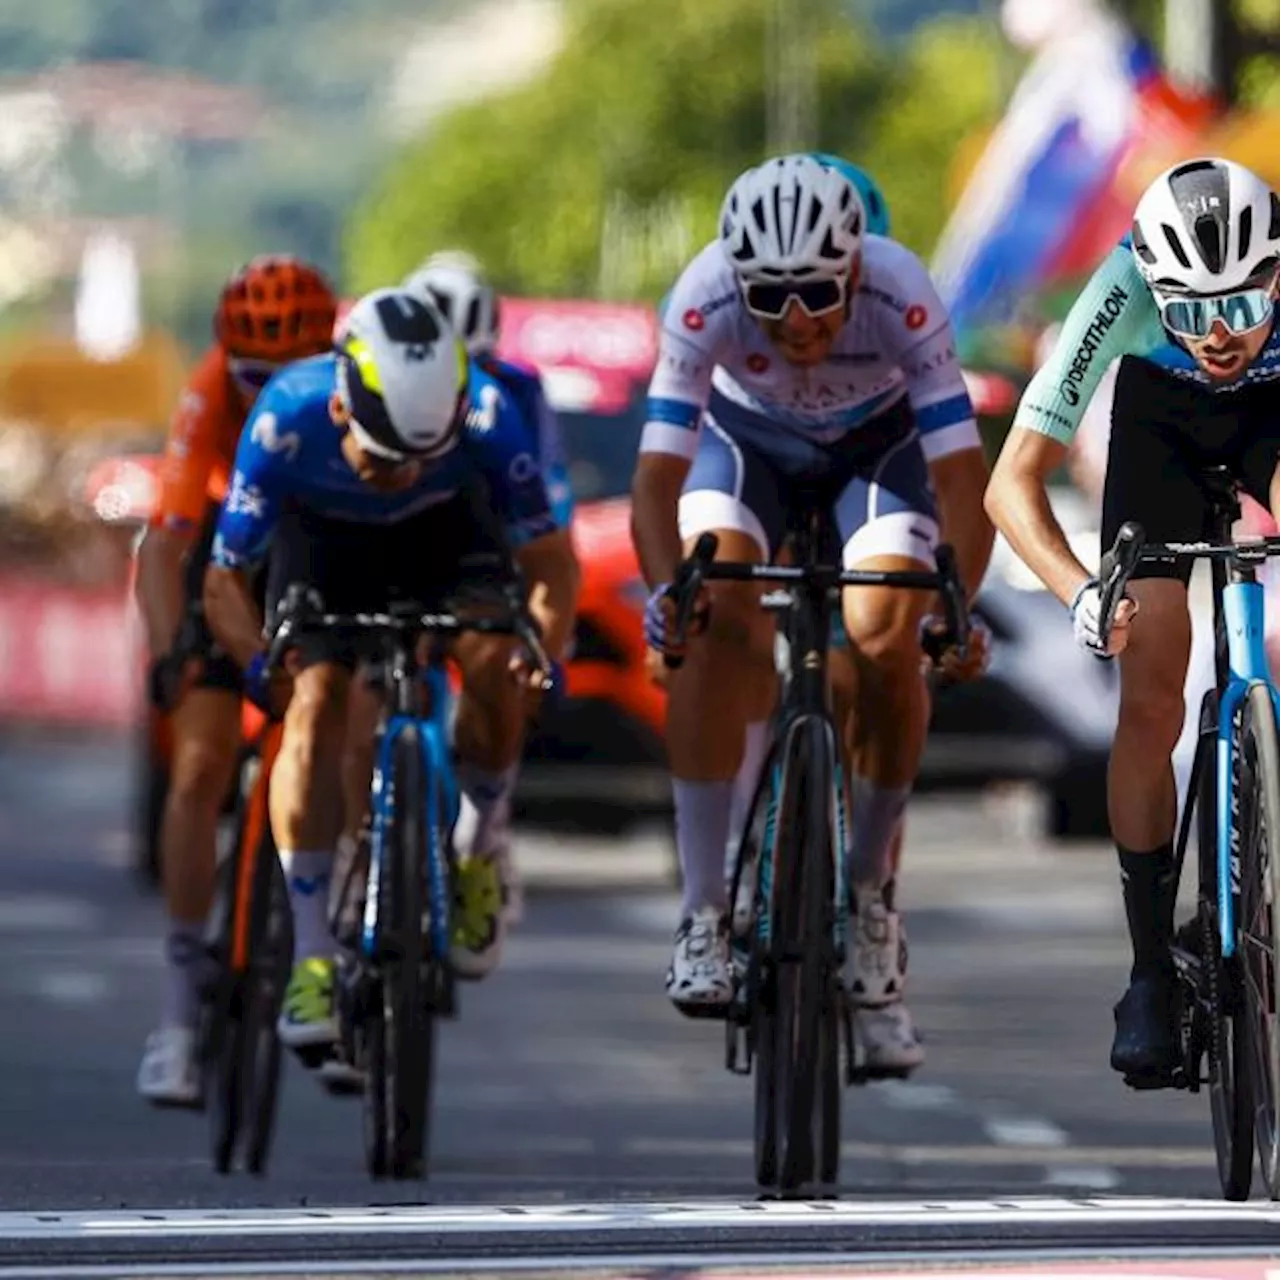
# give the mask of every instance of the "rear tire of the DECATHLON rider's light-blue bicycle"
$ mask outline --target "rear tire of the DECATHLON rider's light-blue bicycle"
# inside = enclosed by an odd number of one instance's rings
[[[1216,724],[1216,700],[1208,722]],[[1216,751],[1201,768],[1196,788],[1196,840],[1199,867],[1201,957],[1208,1004],[1208,1105],[1213,1126],[1217,1180],[1229,1201],[1249,1198],[1253,1185],[1253,1105],[1249,1088],[1245,1020],[1234,1007],[1233,983],[1217,909],[1217,769]],[[1197,1064],[1198,1065],[1198,1064]]]

